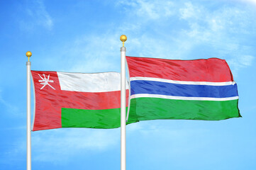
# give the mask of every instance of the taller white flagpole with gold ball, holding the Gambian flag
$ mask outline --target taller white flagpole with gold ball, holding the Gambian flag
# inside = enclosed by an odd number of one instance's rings
[[[126,170],[126,35],[121,35],[121,170]]]

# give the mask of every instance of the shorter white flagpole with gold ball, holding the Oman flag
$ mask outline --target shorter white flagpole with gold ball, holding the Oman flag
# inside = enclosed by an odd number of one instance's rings
[[[32,53],[30,51],[26,52],[28,57],[27,65],[27,170],[31,170],[31,95],[30,95],[30,67],[31,62],[29,58]]]

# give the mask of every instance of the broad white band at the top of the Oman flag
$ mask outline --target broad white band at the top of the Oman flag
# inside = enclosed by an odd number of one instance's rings
[[[79,92],[107,92],[121,90],[121,75],[118,72],[67,73],[57,72],[60,89]],[[128,83],[127,89],[128,89]]]

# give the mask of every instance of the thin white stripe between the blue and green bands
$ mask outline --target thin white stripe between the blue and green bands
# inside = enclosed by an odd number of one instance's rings
[[[183,97],[183,96],[166,96],[160,94],[133,94],[130,96],[132,98],[166,98],[166,99],[174,99],[174,100],[184,100],[184,101],[232,101],[238,99],[238,96],[228,97],[228,98],[207,98],[207,97]]]

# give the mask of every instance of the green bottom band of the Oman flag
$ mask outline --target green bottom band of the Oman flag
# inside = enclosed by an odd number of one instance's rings
[[[120,119],[120,108],[106,110],[62,108],[62,128],[119,128]],[[130,121],[133,122],[135,121]]]

